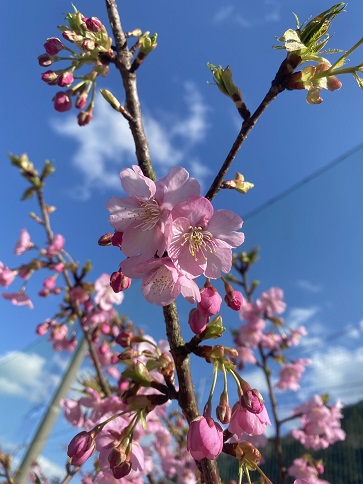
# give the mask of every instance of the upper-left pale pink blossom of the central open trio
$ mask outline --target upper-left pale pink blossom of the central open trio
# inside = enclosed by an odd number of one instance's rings
[[[121,171],[121,184],[130,195],[112,197],[106,204],[110,224],[122,232],[122,251],[128,257],[140,255],[142,260],[165,251],[164,228],[174,205],[192,195],[199,195],[199,183],[189,173],[174,167],[156,183],[134,165]]]

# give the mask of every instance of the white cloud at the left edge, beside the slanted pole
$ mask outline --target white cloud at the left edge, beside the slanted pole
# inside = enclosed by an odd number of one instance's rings
[[[11,351],[0,357],[0,393],[40,402],[59,381],[48,374],[49,360],[36,353]]]

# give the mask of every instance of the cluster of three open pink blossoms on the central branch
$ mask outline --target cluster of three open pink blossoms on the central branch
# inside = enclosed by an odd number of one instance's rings
[[[122,170],[120,178],[129,196],[112,197],[106,207],[115,229],[111,240],[117,237],[127,256],[122,273],[142,279],[148,302],[165,306],[180,293],[199,302],[194,279],[230,271],[232,248],[244,241],[237,232],[242,219],[230,210],[215,211],[184,168],[172,168],[156,183],[138,166]]]

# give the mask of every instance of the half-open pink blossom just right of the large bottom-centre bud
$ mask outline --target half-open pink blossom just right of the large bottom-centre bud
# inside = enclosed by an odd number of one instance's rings
[[[258,414],[248,412],[239,402],[232,409],[231,422],[228,430],[240,437],[243,433],[248,435],[261,435],[265,432],[267,425],[271,425],[266,407]]]

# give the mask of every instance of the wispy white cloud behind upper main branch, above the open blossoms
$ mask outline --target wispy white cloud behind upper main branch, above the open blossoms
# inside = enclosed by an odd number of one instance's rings
[[[192,149],[205,138],[208,129],[208,107],[199,91],[190,82],[185,83],[184,88],[184,101],[188,107],[186,116],[164,113],[156,118],[147,107],[144,108],[151,158],[160,175],[165,175],[170,167],[178,164],[191,168]],[[121,115],[100,98],[89,126],[79,128],[74,115],[62,123],[52,124],[58,133],[78,144],[72,161],[82,174],[82,182],[72,187],[74,196],[86,200],[93,189],[120,187],[120,168],[136,163],[133,139]],[[196,162],[200,164],[198,160]],[[206,169],[199,172],[204,176],[208,173]]]

